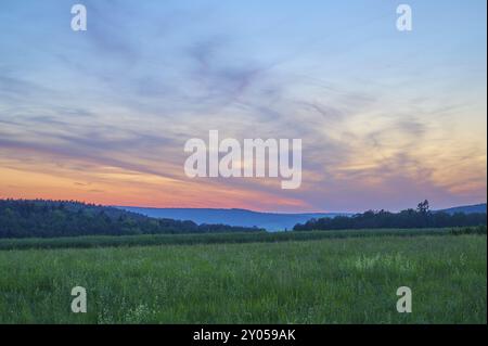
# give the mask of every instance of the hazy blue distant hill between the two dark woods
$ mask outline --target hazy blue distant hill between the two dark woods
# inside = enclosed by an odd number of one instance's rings
[[[208,209],[208,208],[143,208],[118,207],[154,218],[191,220],[196,223],[224,223],[240,227],[264,228],[270,232],[292,230],[296,223],[304,223],[312,218],[351,215],[347,213],[259,213],[246,209]]]

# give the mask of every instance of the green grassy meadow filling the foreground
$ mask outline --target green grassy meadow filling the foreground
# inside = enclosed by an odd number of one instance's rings
[[[70,290],[88,313],[70,312]],[[413,312],[396,311],[396,291]],[[486,323],[485,235],[0,252],[0,323]]]

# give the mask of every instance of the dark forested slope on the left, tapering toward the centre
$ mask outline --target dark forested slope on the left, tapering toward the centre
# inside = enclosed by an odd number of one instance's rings
[[[74,201],[0,200],[0,239],[256,231],[262,230],[155,219]]]

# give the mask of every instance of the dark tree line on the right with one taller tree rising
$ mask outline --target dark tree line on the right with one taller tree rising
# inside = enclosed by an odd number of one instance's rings
[[[428,201],[419,203],[416,209],[400,213],[386,210],[368,210],[354,216],[336,216],[334,218],[311,219],[298,223],[295,231],[345,230],[345,229],[381,229],[381,228],[446,228],[473,227],[487,225],[486,213],[453,213],[429,210]]]

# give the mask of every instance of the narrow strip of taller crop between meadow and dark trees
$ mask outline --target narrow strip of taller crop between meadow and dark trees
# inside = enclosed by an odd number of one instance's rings
[[[89,235],[76,238],[51,239],[0,239],[2,249],[29,248],[89,248],[146,245],[194,245],[221,243],[254,243],[309,241],[337,238],[369,236],[418,236],[418,235],[460,235],[486,234],[486,226],[479,228],[454,229],[368,229],[341,231],[307,231],[307,232],[247,232],[247,233],[205,233],[205,234],[141,234],[141,235]]]

